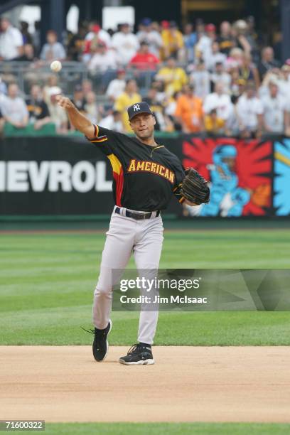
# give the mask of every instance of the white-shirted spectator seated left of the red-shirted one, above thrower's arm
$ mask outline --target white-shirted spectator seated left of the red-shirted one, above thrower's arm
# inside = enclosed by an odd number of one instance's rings
[[[106,70],[117,69],[117,53],[114,50],[108,50],[103,42],[99,42],[92,48],[92,58],[87,64],[87,68],[91,71],[100,71],[104,73]]]

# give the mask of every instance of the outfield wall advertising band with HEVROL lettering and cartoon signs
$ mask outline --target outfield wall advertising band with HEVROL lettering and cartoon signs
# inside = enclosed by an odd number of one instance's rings
[[[172,198],[165,213],[188,218],[290,215],[290,139],[245,140],[159,136],[185,168],[210,183],[210,203]],[[141,195],[141,192],[140,192]],[[0,140],[1,215],[108,215],[114,206],[112,168],[80,136]]]

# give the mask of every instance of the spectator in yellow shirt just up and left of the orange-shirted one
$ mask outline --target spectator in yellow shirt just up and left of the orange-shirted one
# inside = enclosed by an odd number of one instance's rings
[[[161,68],[156,75],[156,80],[163,81],[165,85],[165,91],[168,96],[178,92],[188,82],[188,77],[183,68],[176,65],[174,58],[169,58],[166,62],[166,66]]]

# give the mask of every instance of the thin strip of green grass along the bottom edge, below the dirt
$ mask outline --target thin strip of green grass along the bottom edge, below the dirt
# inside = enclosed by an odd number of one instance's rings
[[[255,423],[72,423],[46,424],[45,434],[102,435],[286,435],[290,424]]]

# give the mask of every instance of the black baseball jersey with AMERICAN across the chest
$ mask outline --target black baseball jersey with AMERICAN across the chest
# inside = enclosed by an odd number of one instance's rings
[[[95,126],[95,137],[87,138],[109,159],[113,172],[114,202],[138,211],[164,210],[176,195],[184,198],[181,185],[185,173],[177,156],[165,146],[149,146],[136,137]]]

